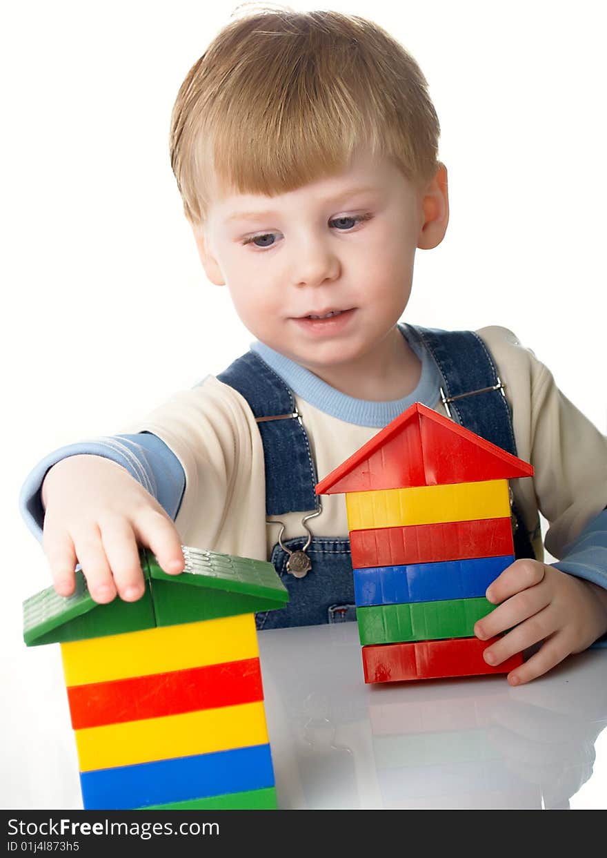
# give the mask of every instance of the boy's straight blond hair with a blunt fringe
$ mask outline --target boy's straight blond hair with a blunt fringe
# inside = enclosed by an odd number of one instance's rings
[[[227,24],[171,115],[171,166],[194,225],[216,193],[273,196],[335,175],[359,148],[416,183],[440,126],[418,63],[382,27],[332,11],[261,9]]]

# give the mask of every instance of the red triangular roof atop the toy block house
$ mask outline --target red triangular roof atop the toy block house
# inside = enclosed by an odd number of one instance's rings
[[[530,477],[532,465],[414,402],[316,486],[316,494]]]

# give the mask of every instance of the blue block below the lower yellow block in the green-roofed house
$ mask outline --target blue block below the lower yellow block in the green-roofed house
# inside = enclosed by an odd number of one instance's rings
[[[273,787],[274,775],[267,744],[81,771],[80,782],[85,810],[130,810]]]

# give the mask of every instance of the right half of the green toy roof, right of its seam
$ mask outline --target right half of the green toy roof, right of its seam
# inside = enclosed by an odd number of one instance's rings
[[[146,553],[156,625],[273,611],[289,599],[271,563],[183,547],[181,575],[167,575]]]

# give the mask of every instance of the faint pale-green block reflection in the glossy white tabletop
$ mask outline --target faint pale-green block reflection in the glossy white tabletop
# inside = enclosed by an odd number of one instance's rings
[[[400,769],[407,765],[472,763],[502,757],[486,728],[443,733],[409,733],[373,737],[377,769]]]

